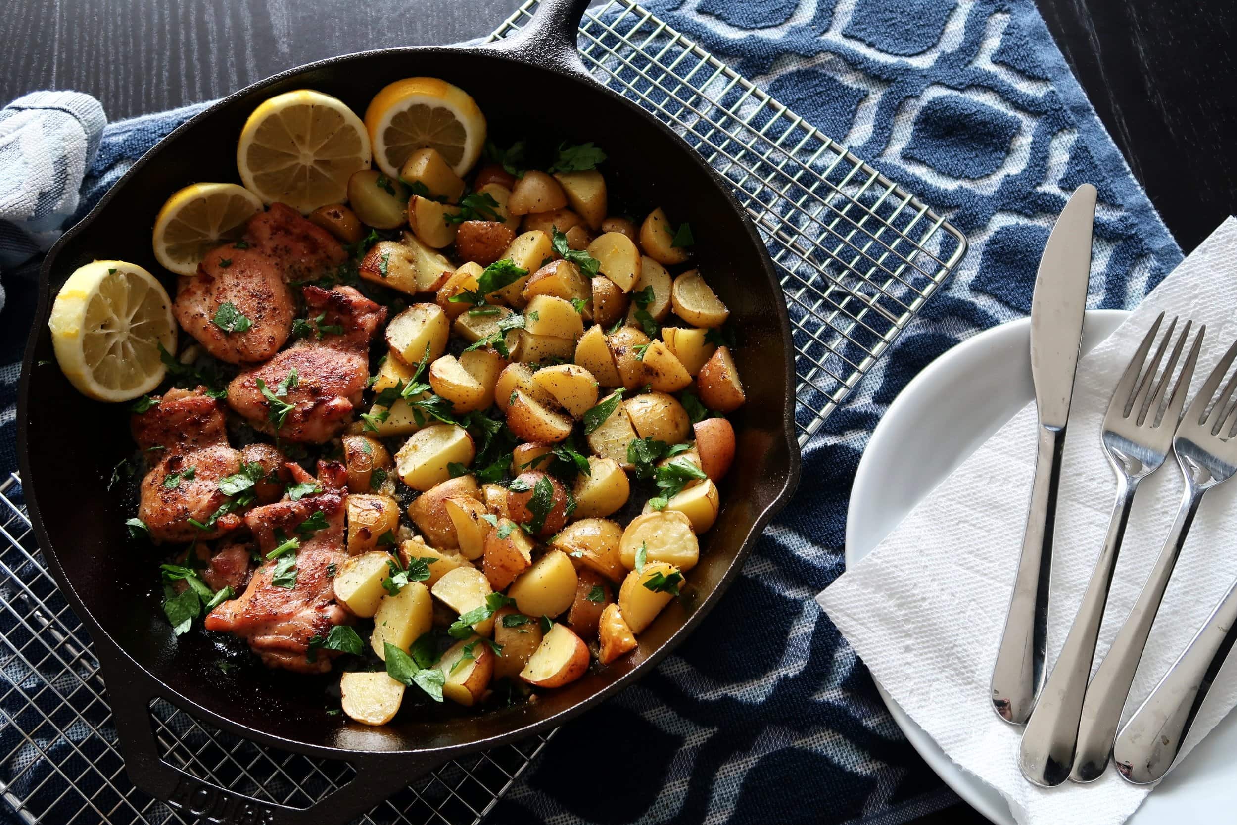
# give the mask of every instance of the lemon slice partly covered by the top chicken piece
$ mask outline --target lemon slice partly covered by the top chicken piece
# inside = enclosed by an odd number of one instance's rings
[[[163,204],[155,219],[155,257],[177,275],[193,275],[207,252],[239,240],[262,200],[235,183],[194,183]]]

